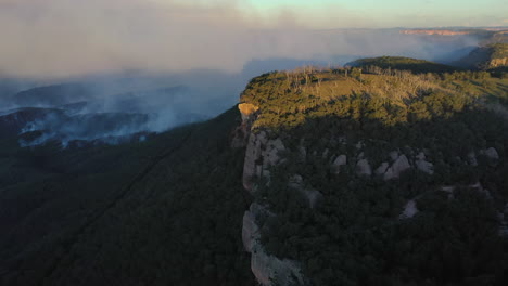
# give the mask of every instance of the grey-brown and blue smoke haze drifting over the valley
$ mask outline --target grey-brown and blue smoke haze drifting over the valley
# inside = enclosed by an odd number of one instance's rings
[[[356,21],[346,11],[339,24],[344,20]],[[110,126],[103,136],[160,132],[227,109],[262,73],[379,55],[452,62],[481,40],[401,31],[317,29],[289,10],[267,16],[241,1],[1,1],[0,34],[9,40],[0,51],[0,109],[145,115],[128,127]],[[53,90],[55,84],[74,90]],[[30,90],[38,87],[48,88]],[[91,130],[87,120],[67,126],[46,113],[33,119],[18,131],[45,130],[47,139],[100,136],[62,134]]]

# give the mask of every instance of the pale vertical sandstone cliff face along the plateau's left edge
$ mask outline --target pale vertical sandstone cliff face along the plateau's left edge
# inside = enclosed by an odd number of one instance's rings
[[[280,139],[268,139],[266,131],[254,132],[252,123],[255,120],[258,108],[252,104],[240,104],[242,114],[242,127],[249,138],[246,143],[245,160],[243,166],[243,186],[255,195],[255,182],[258,179],[270,180],[269,168],[281,161],[280,152],[285,146]],[[299,179],[296,177],[296,179]],[[293,183],[293,187],[301,190],[309,205],[314,206],[320,198],[320,193],[315,190],[304,188],[302,178]],[[253,203],[250,209],[243,216],[242,242],[245,250],[251,253],[251,270],[256,281],[261,285],[270,286],[277,282],[277,285],[292,286],[305,285],[304,277],[296,261],[279,259],[268,255],[261,243],[261,229],[258,217],[276,216],[267,210],[266,207]]]

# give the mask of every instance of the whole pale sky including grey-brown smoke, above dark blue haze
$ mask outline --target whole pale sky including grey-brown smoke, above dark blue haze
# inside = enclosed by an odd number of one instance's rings
[[[433,54],[426,42],[398,36],[314,31],[500,25],[508,26],[507,0],[0,0],[0,75],[237,73],[254,58],[424,56]]]

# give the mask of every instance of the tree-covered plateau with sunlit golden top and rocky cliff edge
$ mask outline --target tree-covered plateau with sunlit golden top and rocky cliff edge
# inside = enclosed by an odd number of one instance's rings
[[[506,74],[353,65],[265,74],[242,93],[257,281],[506,285]]]

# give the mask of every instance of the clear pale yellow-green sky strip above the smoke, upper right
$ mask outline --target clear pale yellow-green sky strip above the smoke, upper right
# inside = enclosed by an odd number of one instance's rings
[[[243,2],[241,5],[247,11],[255,8],[268,15],[290,11],[306,25],[315,28],[508,26],[508,1],[506,0],[247,0],[239,2]]]

